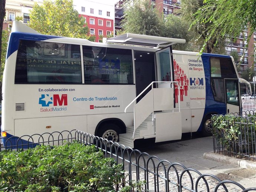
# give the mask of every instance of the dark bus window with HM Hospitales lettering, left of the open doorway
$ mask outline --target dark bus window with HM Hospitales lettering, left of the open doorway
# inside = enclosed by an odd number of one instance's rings
[[[129,49],[83,46],[85,83],[132,84]]]

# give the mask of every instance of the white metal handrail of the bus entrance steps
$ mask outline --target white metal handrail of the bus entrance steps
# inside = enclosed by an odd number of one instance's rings
[[[127,105],[127,107],[125,107],[124,112],[126,113],[127,108],[129,106],[131,106],[132,103],[134,103],[138,99],[138,97],[140,97],[142,95],[142,93],[144,93],[150,86],[152,86],[151,89],[153,89],[154,88],[153,87],[154,83],[171,83],[171,84],[176,83],[178,85],[178,93],[180,93],[180,86],[179,86],[179,82],[177,82],[177,81],[153,81],[137,97],[135,97],[135,99],[132,100],[132,102],[129,103],[129,105]],[[178,98],[179,98],[178,99],[178,105],[179,105],[179,112],[180,112],[180,97],[178,97]],[[134,138],[134,134],[135,134],[135,103],[134,103],[134,107],[133,107],[133,117],[134,117],[134,131],[133,131],[132,138]],[[154,109],[153,109],[153,112],[152,112],[152,122],[153,121],[154,121]]]

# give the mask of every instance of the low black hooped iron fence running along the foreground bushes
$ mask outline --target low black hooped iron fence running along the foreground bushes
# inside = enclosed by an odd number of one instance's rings
[[[114,158],[116,163],[121,163],[123,169],[128,172],[129,181],[146,181],[145,191],[256,191],[256,188],[245,189],[237,182],[221,181],[217,176],[201,174],[180,163],[161,160],[157,156],[151,156],[79,130],[12,137],[4,140],[0,151],[26,149],[36,145],[63,145],[73,141],[83,145],[95,145],[98,150],[104,152],[105,157]]]

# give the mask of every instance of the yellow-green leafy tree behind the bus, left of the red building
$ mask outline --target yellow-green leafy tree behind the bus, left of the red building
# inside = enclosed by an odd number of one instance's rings
[[[73,9],[72,0],[45,0],[42,6],[35,3],[29,26],[43,34],[90,39],[85,19]]]

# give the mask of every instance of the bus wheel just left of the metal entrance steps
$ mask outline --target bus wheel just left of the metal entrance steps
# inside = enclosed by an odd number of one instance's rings
[[[121,129],[117,125],[108,123],[100,128],[97,135],[115,143],[119,141],[119,133],[121,133]]]

